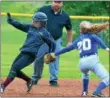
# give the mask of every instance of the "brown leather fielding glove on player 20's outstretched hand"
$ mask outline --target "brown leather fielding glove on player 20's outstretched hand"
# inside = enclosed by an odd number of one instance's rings
[[[56,60],[56,56],[54,53],[48,53],[44,56],[44,62],[46,64],[49,64],[50,62],[55,61],[55,60]]]

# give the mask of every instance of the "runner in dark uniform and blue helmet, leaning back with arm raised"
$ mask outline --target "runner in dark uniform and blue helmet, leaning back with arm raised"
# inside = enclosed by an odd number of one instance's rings
[[[1,92],[4,92],[5,88],[14,80],[15,77],[19,77],[25,80],[28,84],[30,78],[26,76],[21,70],[30,65],[37,57],[40,46],[46,43],[49,46],[49,52],[54,51],[55,43],[50,33],[45,29],[47,24],[47,16],[42,12],[37,12],[33,16],[32,24],[21,24],[11,18],[8,13],[8,23],[15,28],[27,33],[27,38],[24,45],[20,49],[20,54],[14,60],[8,77],[0,85]],[[42,55],[42,53],[41,53]],[[39,69],[40,70],[40,69]],[[30,90],[29,85],[27,85]]]

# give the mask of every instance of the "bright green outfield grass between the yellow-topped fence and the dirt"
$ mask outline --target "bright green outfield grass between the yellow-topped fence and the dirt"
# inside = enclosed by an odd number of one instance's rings
[[[2,20],[2,77],[6,77],[10,70],[14,58],[19,54],[19,48],[22,46],[26,34],[16,30],[6,23],[6,19]],[[69,79],[80,79],[81,72],[78,69],[79,55],[78,51],[71,51],[61,55],[59,77]],[[109,69],[109,54],[104,50],[99,50],[100,61]],[[92,62],[91,62],[92,63]],[[29,76],[32,75],[32,65],[23,70]],[[49,77],[49,67],[44,66],[43,77]],[[94,74],[91,77],[96,78]]]

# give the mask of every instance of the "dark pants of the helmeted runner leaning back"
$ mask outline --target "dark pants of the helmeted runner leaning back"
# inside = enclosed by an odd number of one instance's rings
[[[21,52],[14,60],[8,77],[19,77],[19,73],[23,73],[21,70],[30,65],[35,60],[35,58],[36,57],[31,53]]]

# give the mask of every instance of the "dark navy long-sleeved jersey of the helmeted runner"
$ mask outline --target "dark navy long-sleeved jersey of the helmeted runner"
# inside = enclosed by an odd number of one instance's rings
[[[39,47],[44,43],[48,44],[50,49],[49,52],[54,52],[54,39],[45,28],[38,29],[32,26],[31,24],[21,24],[13,19],[9,19],[8,23],[13,25],[17,29],[27,33],[27,38],[24,42],[24,45],[20,49],[21,52],[30,52],[34,55],[37,55]]]

